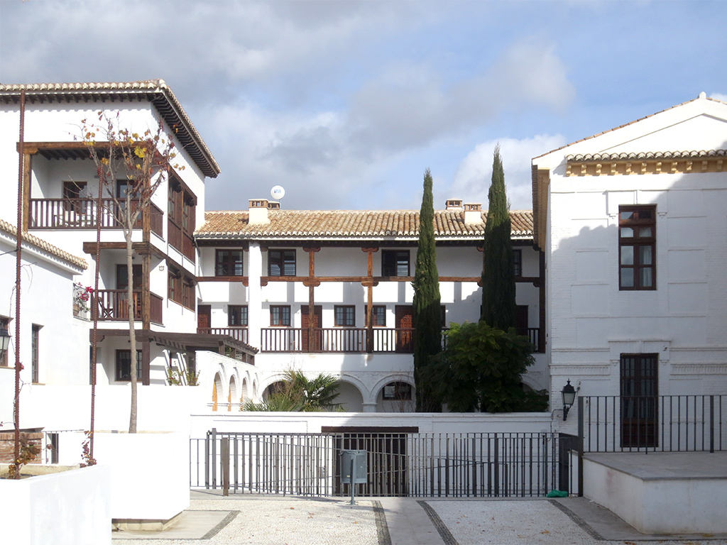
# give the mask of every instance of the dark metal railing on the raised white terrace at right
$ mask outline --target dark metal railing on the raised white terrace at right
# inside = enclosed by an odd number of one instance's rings
[[[584,396],[583,452],[727,450],[727,395]]]

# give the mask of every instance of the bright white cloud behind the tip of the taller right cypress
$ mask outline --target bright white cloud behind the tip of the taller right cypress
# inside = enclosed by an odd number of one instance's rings
[[[498,142],[510,208],[531,209],[531,158],[565,145],[566,138],[561,134],[538,134],[523,140],[502,138],[476,145],[459,165],[454,182],[447,190],[447,195],[442,197],[481,203],[482,208],[487,209],[487,194],[492,177],[492,153]]]

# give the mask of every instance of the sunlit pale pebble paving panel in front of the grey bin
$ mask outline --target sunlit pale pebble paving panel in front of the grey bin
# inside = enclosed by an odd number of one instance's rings
[[[216,536],[188,539],[124,539],[116,545],[255,544],[255,545],[378,545],[371,501],[225,498],[191,501],[190,510],[238,510]]]

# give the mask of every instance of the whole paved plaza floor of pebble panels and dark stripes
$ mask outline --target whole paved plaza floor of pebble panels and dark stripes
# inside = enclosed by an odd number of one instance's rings
[[[193,491],[161,532],[114,532],[116,545],[727,545],[727,535],[647,536],[585,498],[223,497]]]

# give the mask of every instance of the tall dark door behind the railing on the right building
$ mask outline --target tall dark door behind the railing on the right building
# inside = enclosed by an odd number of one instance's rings
[[[659,443],[658,354],[621,355],[621,446]]]

